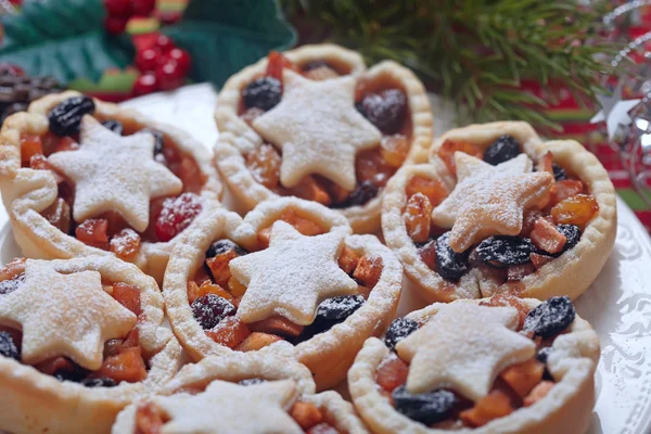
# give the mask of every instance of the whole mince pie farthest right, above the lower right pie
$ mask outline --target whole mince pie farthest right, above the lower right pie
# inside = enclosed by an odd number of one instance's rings
[[[576,298],[603,267],[615,191],[577,142],[544,142],[525,123],[472,125],[430,158],[394,176],[382,210],[386,244],[427,301]]]

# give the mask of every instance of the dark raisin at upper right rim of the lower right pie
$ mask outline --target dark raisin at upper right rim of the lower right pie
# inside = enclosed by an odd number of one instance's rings
[[[528,312],[523,330],[533,331],[534,335],[542,339],[551,337],[570,327],[575,316],[570,297],[551,297]]]

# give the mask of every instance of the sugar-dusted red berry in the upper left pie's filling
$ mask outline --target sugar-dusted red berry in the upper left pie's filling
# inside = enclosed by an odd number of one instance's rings
[[[201,202],[194,193],[183,193],[178,197],[167,197],[156,218],[154,227],[159,241],[169,241],[186,229],[201,213]]]

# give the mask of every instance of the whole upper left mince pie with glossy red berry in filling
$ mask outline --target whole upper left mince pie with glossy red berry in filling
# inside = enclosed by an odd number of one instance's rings
[[[187,133],[77,92],[35,101],[1,137],[2,197],[26,256],[114,254],[159,280],[177,235],[221,194]]]

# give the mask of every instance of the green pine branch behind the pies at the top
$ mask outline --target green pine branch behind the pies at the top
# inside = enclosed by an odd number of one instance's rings
[[[608,4],[575,0],[283,0],[314,38],[360,51],[370,64],[392,59],[454,100],[472,120],[522,119],[557,128],[544,112],[563,84],[593,101],[609,65],[599,53],[616,47],[597,37]],[[309,41],[309,40],[308,40]],[[550,90],[523,91],[523,80]]]

